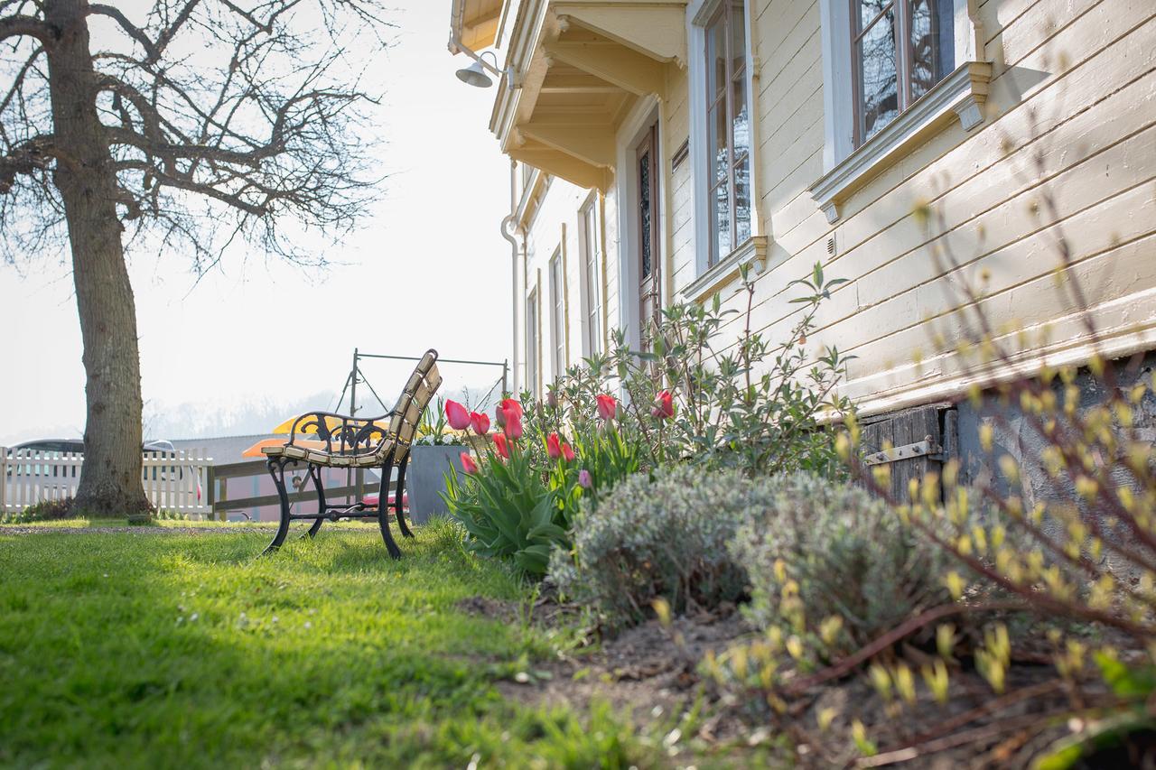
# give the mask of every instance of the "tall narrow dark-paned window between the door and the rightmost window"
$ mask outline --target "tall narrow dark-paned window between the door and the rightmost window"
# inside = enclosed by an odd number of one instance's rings
[[[724,0],[706,38],[706,179],[713,266],[750,237],[750,108],[747,24],[741,0]]]

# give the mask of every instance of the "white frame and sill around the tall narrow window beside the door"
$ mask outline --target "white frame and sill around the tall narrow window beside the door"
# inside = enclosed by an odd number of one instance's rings
[[[711,177],[710,136],[706,125],[706,24],[713,18],[719,7],[726,0],[691,0],[687,3],[687,44],[688,77],[690,88],[690,163],[691,179],[695,191],[695,275],[696,280],[682,291],[684,295],[699,298],[704,290],[714,288],[720,280],[733,275],[740,262],[762,259],[765,253],[763,237],[763,217],[761,216],[762,194],[758,184],[758,114],[755,103],[755,79],[758,62],[755,60],[754,24],[750,18],[750,0],[743,2],[744,30],[747,37],[747,114],[750,116],[750,237],[743,243],[731,244],[729,254],[719,254],[714,265],[710,264],[711,254]]]

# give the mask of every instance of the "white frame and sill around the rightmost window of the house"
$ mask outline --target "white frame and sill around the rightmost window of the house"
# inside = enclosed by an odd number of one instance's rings
[[[839,205],[877,166],[949,123],[953,113],[964,131],[983,123],[981,106],[987,97],[991,65],[983,61],[983,51],[977,57],[977,47],[983,43],[976,39],[968,2],[953,3],[955,71],[855,148],[851,2],[818,0],[823,44],[823,176],[810,186],[810,192],[829,222],[838,221]]]

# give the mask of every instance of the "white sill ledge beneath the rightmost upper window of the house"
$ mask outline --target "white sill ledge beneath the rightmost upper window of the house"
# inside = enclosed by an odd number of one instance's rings
[[[981,124],[991,77],[992,65],[986,61],[961,65],[885,128],[824,173],[809,187],[809,192],[827,214],[827,221],[835,223],[839,219],[839,206],[854,190],[912,145],[950,123],[953,116],[959,118],[964,131]]]

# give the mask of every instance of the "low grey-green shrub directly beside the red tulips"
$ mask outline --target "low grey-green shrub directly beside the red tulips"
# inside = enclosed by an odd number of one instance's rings
[[[556,550],[549,576],[608,628],[646,617],[655,599],[675,612],[713,608],[743,594],[747,575],[727,541],[769,501],[738,472],[667,466],[636,474],[575,520],[573,549]]]

